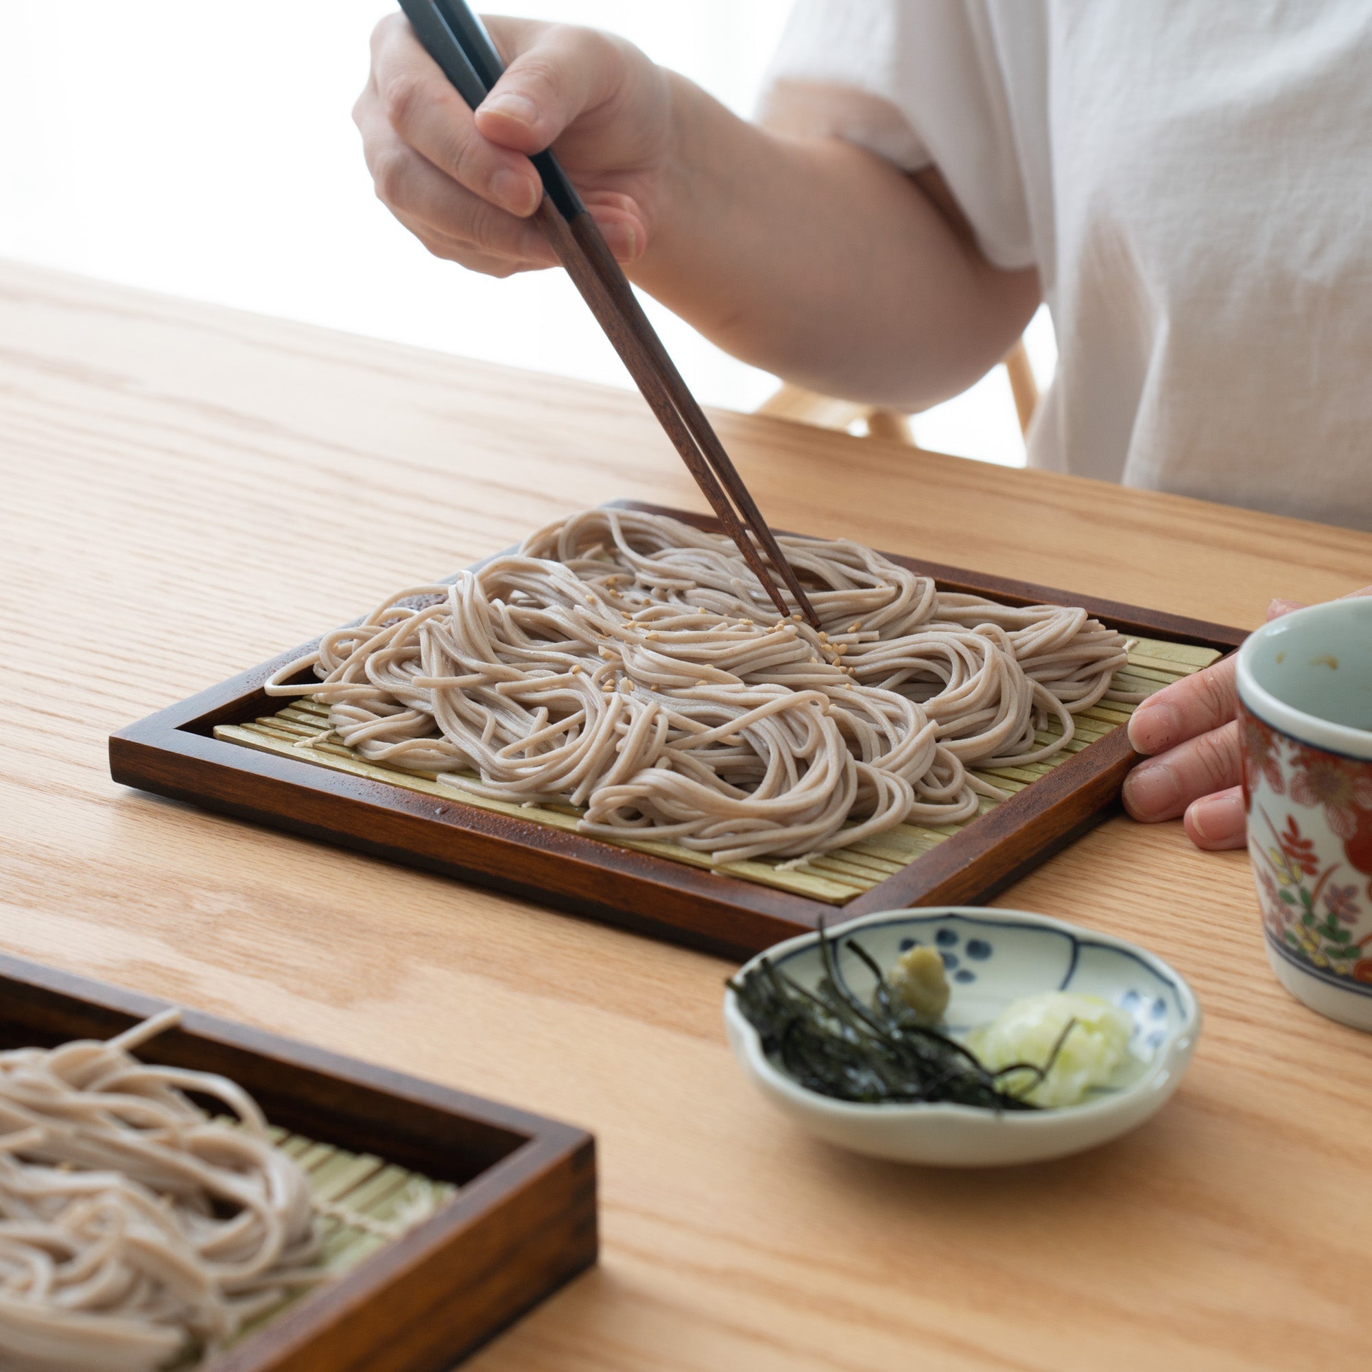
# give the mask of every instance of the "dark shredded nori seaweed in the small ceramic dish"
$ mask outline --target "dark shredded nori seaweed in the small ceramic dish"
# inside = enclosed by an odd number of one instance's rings
[[[871,1003],[848,985],[838,952],[852,951],[877,978]],[[1048,1074],[1076,1021],[1058,1036],[1041,1066],[1015,1062],[988,1072],[977,1055],[947,1034],[919,1024],[855,938],[836,947],[819,927],[825,975],[807,991],[770,959],[763,958],[730,989],[748,1022],[761,1037],[763,1051],[808,1091],[862,1104],[949,1102],[988,1110],[1037,1110],[1024,1096]],[[1014,1092],[1002,1083],[1011,1073],[1029,1073]]]

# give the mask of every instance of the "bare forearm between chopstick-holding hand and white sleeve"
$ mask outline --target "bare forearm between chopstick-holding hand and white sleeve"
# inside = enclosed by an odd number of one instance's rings
[[[634,281],[786,380],[921,409],[965,390],[1039,302],[914,178],[838,140],[738,119],[672,78],[678,154]]]

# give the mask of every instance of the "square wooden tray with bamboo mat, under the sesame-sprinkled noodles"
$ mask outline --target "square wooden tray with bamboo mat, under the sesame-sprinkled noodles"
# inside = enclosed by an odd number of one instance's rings
[[[708,516],[616,502],[718,531]],[[940,590],[1007,605],[1080,605],[1136,639],[1121,670],[1150,689],[1209,665],[1244,631],[886,553]],[[310,838],[512,892],[726,956],[875,910],[974,904],[1099,823],[1136,760],[1132,707],[1103,701],[1074,716],[1056,757],[982,775],[1010,799],[984,801],[962,825],[901,825],[794,867],[775,860],[711,866],[667,842],[612,844],[576,833],[572,807],[527,807],[462,793],[432,777],[379,767],[321,738],[327,709],[269,697],[262,683],[317,646],[306,643],[159,711],[110,740],[110,772],[143,790],[193,801]]]

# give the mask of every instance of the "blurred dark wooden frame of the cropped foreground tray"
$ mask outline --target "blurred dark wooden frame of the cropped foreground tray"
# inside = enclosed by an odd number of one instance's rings
[[[3,1048],[107,1039],[166,1008],[0,955]],[[595,1261],[582,1129],[193,1010],[139,1056],[222,1073],[272,1124],[462,1187],[196,1372],[446,1372]]]

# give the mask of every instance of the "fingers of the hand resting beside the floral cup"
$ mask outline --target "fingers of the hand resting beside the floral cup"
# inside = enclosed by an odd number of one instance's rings
[[[1372,586],[1350,594],[1372,595]],[[1268,619],[1292,609],[1301,609],[1299,602],[1275,600]],[[1150,696],[1129,720],[1129,742],[1154,756],[1125,778],[1125,809],[1144,823],[1184,815],[1198,848],[1242,848],[1238,713],[1232,654]]]

